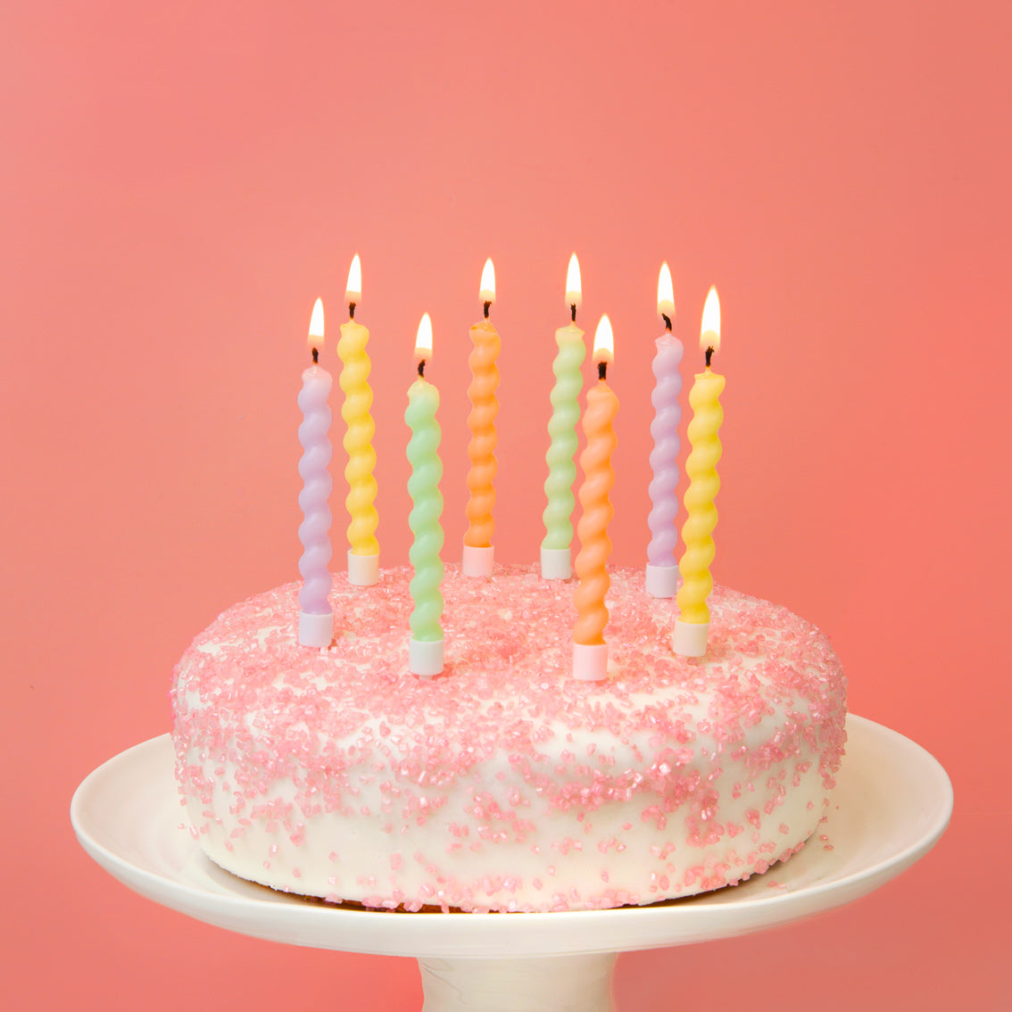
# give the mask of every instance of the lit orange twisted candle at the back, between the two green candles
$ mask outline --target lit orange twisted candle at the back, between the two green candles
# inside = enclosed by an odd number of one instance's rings
[[[499,413],[499,402],[496,400],[499,367],[496,359],[502,342],[489,320],[489,308],[496,301],[496,272],[491,260],[485,261],[480,296],[485,304],[485,318],[471,328],[473,348],[468,358],[472,376],[468,388],[471,400],[471,414],[468,416],[468,428],[471,429],[468,489],[471,498],[467,506],[468,529],[463,535],[465,576],[492,576],[494,555],[492,507],[496,502],[496,493],[492,483],[496,477],[496,415]]]

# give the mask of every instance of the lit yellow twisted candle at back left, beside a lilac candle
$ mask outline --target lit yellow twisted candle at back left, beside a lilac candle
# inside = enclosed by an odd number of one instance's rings
[[[355,323],[355,306],[362,298],[362,267],[356,253],[348,271],[348,286],[344,293],[348,303],[348,322],[341,324],[341,339],[337,354],[343,368],[339,383],[344,391],[341,417],[344,419],[344,449],[348,463],[344,477],[348,483],[346,505],[351,516],[348,525],[348,582],[358,587],[370,587],[380,579],[380,542],[375,538],[380,522],[375,507],[376,480],[372,477],[376,454],[372,448],[375,425],[369,409],[372,389],[369,387],[368,329]]]

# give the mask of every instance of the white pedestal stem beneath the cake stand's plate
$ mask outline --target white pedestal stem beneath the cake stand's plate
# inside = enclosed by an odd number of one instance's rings
[[[617,955],[419,959],[422,1012],[613,1012]]]

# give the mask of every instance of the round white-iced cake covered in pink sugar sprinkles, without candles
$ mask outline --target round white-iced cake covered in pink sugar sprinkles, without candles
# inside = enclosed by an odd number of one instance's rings
[[[714,587],[706,656],[612,570],[609,677],[571,677],[569,581],[448,566],[445,670],[408,672],[410,569],[338,577],[333,644],[298,584],[225,611],[176,667],[176,774],[223,868],[418,911],[591,910],[716,889],[798,850],[843,755],[846,679],[815,626]]]

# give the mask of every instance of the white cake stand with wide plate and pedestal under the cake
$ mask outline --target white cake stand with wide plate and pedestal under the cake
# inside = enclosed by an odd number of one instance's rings
[[[650,907],[558,914],[396,914],[272,893],[223,871],[189,832],[168,735],[121,753],[74,793],[84,849],[142,896],[256,938],[418,959],[423,1012],[609,1012],[618,952],[727,938],[839,907],[923,857],[952,813],[944,769],[859,716],[828,822],[741,886]]]

